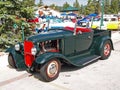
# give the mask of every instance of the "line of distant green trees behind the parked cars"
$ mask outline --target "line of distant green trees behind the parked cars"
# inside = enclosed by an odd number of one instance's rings
[[[87,5],[81,5],[78,0],[75,0],[73,7],[79,8],[79,14],[88,15],[90,13],[101,13],[101,1],[102,0],[88,0]],[[69,7],[69,3],[65,2],[62,7],[58,7],[55,4],[50,5],[53,9],[61,11]],[[104,0],[104,13],[105,14],[117,14],[120,12],[120,0]]]

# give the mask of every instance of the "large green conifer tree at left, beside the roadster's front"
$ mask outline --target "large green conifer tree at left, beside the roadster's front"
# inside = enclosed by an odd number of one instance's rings
[[[0,50],[22,41],[21,25],[25,36],[30,35],[30,25],[25,21],[34,16],[34,0],[0,1]]]

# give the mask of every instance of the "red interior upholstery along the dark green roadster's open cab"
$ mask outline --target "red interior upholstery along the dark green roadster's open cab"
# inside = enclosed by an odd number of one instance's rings
[[[72,31],[74,32],[74,27],[65,27],[65,30],[69,30],[69,31]],[[76,32],[78,33],[79,31],[81,32],[91,32],[91,29],[90,28],[85,28],[85,27],[76,27]]]

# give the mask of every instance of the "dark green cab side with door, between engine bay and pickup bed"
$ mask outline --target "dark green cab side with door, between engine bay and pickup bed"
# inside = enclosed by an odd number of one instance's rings
[[[63,54],[71,55],[87,50],[93,40],[93,31],[66,37],[63,42]]]

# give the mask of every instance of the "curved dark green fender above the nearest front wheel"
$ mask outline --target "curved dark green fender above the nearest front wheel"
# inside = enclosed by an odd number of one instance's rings
[[[67,58],[62,54],[54,53],[54,52],[47,52],[47,53],[44,53],[44,54],[41,54],[40,56],[38,56],[36,58],[35,62],[37,64],[43,64],[52,58],[61,58],[61,59],[67,60]]]

